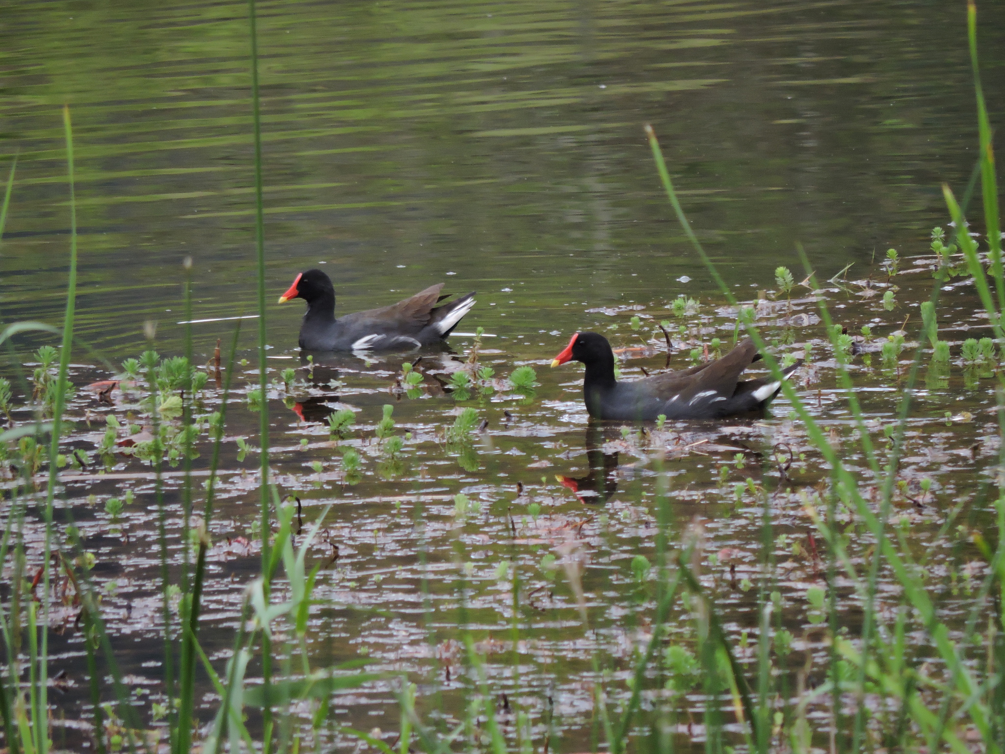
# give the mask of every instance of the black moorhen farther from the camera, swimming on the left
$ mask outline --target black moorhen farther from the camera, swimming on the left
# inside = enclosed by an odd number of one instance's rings
[[[387,351],[441,343],[474,306],[474,292],[437,307],[439,282],[390,307],[369,309],[335,319],[335,289],[320,269],[300,272],[279,304],[304,299],[308,312],[300,325],[300,348],[308,351]]]

